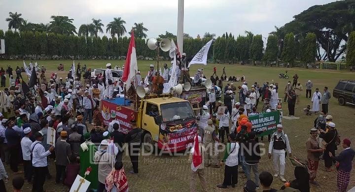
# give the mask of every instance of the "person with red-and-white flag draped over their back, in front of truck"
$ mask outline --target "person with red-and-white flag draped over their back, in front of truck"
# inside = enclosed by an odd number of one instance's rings
[[[200,179],[202,191],[207,192],[207,182],[204,171],[204,156],[205,147],[202,144],[202,138],[198,135],[195,136],[193,148],[189,161],[191,162],[191,180],[190,180],[190,192],[195,192],[196,179]]]

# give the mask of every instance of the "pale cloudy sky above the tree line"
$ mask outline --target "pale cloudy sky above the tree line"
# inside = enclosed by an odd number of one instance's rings
[[[251,31],[267,36],[274,26],[291,21],[292,16],[315,4],[332,0],[185,0],[184,32],[196,37],[205,32],[234,35]],[[113,17],[121,17],[129,30],[143,22],[149,37],[165,31],[177,32],[178,0],[0,0],[0,29],[7,30],[8,12],[22,13],[32,23],[49,23],[51,15],[74,19],[78,30],[92,18],[106,25]],[[101,34],[104,35],[104,34]],[[107,34],[106,34],[107,35]],[[125,35],[128,35],[126,33]]]

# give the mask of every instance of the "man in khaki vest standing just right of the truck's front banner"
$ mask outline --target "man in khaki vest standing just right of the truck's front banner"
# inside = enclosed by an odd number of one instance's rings
[[[215,134],[215,129],[213,126],[213,121],[211,119],[207,120],[207,126],[204,128],[204,132],[202,134],[202,141],[205,144],[205,149],[210,149],[205,151],[205,166],[209,167],[212,164],[213,168],[219,168],[218,160],[217,160],[217,152],[215,146],[215,141],[219,143],[218,138]]]

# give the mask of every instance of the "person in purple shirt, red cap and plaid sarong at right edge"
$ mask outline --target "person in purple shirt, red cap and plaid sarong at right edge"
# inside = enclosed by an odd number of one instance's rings
[[[337,178],[337,188],[338,192],[346,192],[349,182],[350,182],[350,173],[353,168],[352,162],[354,160],[355,151],[350,148],[351,141],[346,138],[343,140],[342,147],[344,150],[339,154],[339,156],[334,156],[329,152],[329,156],[332,160],[339,162],[338,169],[338,178]]]

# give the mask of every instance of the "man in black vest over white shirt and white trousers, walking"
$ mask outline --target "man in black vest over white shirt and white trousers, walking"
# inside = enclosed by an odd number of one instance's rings
[[[269,159],[271,159],[272,153],[274,157],[274,177],[280,176],[280,180],[282,182],[286,182],[284,179],[286,150],[289,153],[289,157],[291,157],[291,147],[289,145],[288,137],[284,133],[283,125],[278,124],[277,131],[271,136],[271,141],[269,144]]]

